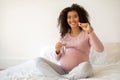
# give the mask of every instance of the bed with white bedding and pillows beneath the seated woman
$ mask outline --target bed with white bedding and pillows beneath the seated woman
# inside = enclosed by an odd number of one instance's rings
[[[90,61],[94,76],[78,80],[120,80],[120,43],[104,43],[103,53],[91,49]],[[59,64],[54,57],[54,46],[45,46],[40,50],[40,57]],[[0,80],[69,80],[66,78],[48,77],[41,74],[36,67],[36,59],[0,71]]]

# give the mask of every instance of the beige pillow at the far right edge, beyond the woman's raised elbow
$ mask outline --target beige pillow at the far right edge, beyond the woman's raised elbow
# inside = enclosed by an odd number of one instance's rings
[[[113,64],[120,61],[120,42],[105,43],[106,63]]]

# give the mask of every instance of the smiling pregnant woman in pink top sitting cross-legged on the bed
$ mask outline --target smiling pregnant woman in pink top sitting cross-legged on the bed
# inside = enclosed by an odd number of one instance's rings
[[[78,4],[61,11],[58,18],[60,41],[55,45],[56,59],[60,65],[41,58],[40,62],[48,66],[47,69],[41,67],[44,75],[64,75],[72,80],[93,75],[89,61],[90,48],[102,52],[104,47],[88,18],[88,12]]]

